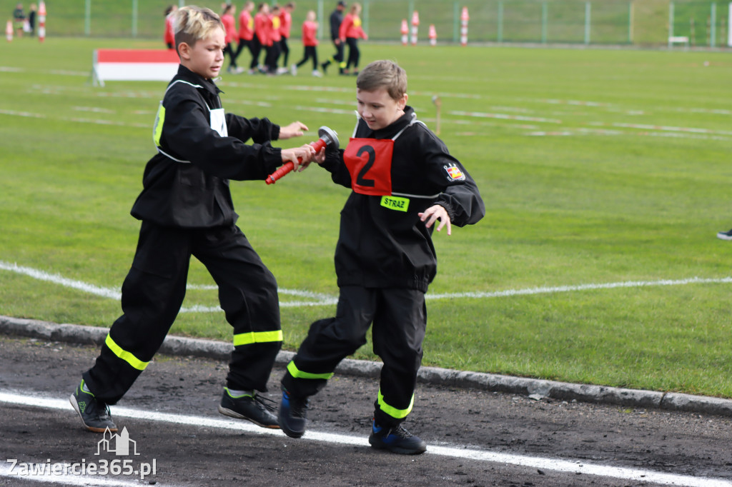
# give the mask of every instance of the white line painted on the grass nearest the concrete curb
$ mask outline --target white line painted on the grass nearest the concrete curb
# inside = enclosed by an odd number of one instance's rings
[[[0,260],[0,271],[10,271],[25,276],[39,279],[40,281],[52,282],[64,287],[70,287],[75,290],[88,292],[92,295],[101,296],[102,298],[111,298],[119,301],[122,293],[119,290],[108,287],[100,287],[75,279],[67,279],[59,274],[51,274],[38,269],[21,266],[15,263],[7,263]],[[575,286],[553,286],[553,287],[530,287],[526,289],[509,289],[503,291],[486,291],[486,292],[445,292],[445,293],[427,293],[425,299],[482,299],[482,298],[505,298],[509,296],[550,294],[553,292],[578,292],[591,291],[601,289],[617,289],[624,287],[654,287],[654,286],[685,286],[688,284],[729,284],[732,283],[732,277],[720,277],[706,279],[701,277],[690,277],[687,279],[661,279],[658,281],[625,281],[625,282],[608,282],[595,284],[578,284]],[[217,290],[218,287],[213,284],[188,284],[190,290]],[[337,303],[336,296],[324,294],[321,292],[311,292],[306,290],[288,290],[280,288],[277,290],[283,295],[298,296],[300,298],[309,298],[313,301],[283,301],[280,306],[285,308],[298,306],[332,306]],[[218,306],[191,306],[181,309],[182,313],[190,312],[220,312]]]

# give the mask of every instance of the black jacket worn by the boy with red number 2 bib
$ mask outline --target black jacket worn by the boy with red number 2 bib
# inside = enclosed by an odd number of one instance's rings
[[[405,108],[395,123],[372,131],[359,119],[355,137],[384,139],[406,128],[394,143],[392,195],[407,197],[407,211],[382,205],[381,196],[351,192],[340,214],[340,235],[335,249],[339,286],[402,287],[427,291],[437,271],[432,231],[418,213],[432,205],[444,206],[458,227],[474,224],[485,215],[478,188],[445,144],[421,123],[413,123],[414,110]],[[343,149],[326,151],[323,167],[337,184],[352,187],[344,165]],[[444,231],[444,229],[443,229]]]

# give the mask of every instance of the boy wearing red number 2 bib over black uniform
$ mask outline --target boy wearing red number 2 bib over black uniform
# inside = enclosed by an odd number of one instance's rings
[[[425,292],[437,270],[432,233],[478,222],[485,205],[465,167],[406,105],[406,85],[394,62],[369,64],[356,78],[359,120],[348,146],[315,159],[351,194],[335,249],[336,316],[310,325],[282,379],[278,419],[289,437],[305,433],[308,396],[366,343],[373,323],[373,351],[384,366],[369,442],[394,453],[427,448],[401,423],[422,363]]]

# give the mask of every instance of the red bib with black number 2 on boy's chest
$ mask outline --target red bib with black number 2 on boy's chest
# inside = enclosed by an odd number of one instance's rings
[[[351,188],[361,195],[391,195],[393,152],[392,139],[348,140],[343,161],[351,173]]]

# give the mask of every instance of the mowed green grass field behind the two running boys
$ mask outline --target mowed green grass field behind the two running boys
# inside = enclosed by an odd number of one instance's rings
[[[0,266],[119,291],[165,83],[89,86],[91,53],[159,45],[1,45]],[[732,242],[715,238],[732,227],[727,53],[364,43],[362,57],[407,69],[410,103],[432,128],[441,97],[441,137],[487,208],[479,224],[435,235],[425,365],[732,397]],[[345,144],[354,81],[301,69],[219,85],[228,111],[305,122],[298,144],[321,125]],[[295,350],[335,311],[348,191],[318,167],[231,188],[239,226],[282,288],[284,347]],[[189,282],[198,287],[172,333],[228,340],[223,312],[190,312],[217,306],[202,265]],[[0,314],[108,326],[119,313],[114,298],[0,270]],[[370,346],[356,358],[373,358]]]

